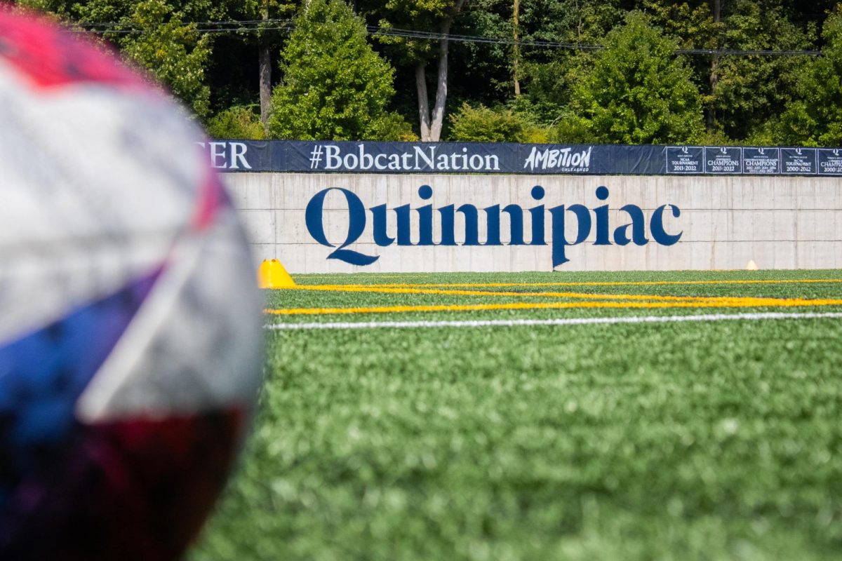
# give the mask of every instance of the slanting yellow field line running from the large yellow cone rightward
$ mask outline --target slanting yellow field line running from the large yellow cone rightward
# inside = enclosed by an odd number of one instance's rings
[[[663,296],[651,294],[590,294],[578,292],[499,292],[485,290],[450,290],[442,288],[392,288],[386,286],[349,286],[346,284],[297,285],[290,290],[310,290],[323,292],[361,292],[372,294],[439,294],[445,296],[504,296],[530,298],[581,298],[581,299],[610,299],[610,300],[678,300],[695,302],[722,298],[721,296]]]

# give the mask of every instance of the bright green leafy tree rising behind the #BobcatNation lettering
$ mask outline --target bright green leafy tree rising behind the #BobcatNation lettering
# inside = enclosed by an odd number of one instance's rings
[[[371,49],[365,24],[342,0],[312,0],[282,53],[269,134],[303,140],[398,140],[389,113],[393,70]]]

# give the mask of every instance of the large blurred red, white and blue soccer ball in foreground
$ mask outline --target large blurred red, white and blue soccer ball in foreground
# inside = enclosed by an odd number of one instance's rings
[[[0,559],[178,558],[259,381],[248,246],[163,93],[0,8]]]

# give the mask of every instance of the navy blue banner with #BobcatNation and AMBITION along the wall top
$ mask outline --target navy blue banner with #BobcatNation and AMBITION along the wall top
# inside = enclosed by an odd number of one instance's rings
[[[842,149],[211,140],[225,172],[842,175]]]

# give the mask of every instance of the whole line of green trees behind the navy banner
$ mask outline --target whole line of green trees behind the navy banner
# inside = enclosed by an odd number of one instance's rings
[[[18,3],[116,45],[212,135],[842,144],[836,2]]]

